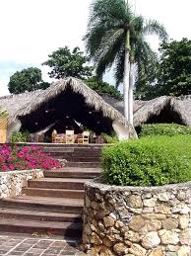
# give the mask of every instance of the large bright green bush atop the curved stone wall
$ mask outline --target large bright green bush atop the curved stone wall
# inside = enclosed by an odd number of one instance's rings
[[[153,136],[118,142],[102,151],[103,182],[159,186],[191,180],[191,136]]]

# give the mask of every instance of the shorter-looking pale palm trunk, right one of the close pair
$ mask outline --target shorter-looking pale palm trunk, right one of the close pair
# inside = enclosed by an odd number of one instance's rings
[[[128,120],[133,126],[133,89],[134,89],[134,74],[133,74],[133,63],[130,63],[129,73],[129,95],[128,95]]]

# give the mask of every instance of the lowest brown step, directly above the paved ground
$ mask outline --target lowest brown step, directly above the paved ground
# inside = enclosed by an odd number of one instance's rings
[[[37,221],[2,218],[0,219],[0,230],[4,232],[16,233],[37,233],[49,235],[63,235],[65,237],[80,237],[82,233],[82,224],[73,222],[59,221]]]

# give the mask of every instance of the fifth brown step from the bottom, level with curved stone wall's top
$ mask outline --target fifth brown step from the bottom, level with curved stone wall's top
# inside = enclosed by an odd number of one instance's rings
[[[30,188],[44,188],[44,189],[69,189],[69,190],[83,190],[84,184],[90,179],[78,178],[40,178],[38,180],[29,181]]]

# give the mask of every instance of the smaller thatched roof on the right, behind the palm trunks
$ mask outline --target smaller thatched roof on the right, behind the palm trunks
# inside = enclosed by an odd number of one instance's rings
[[[123,101],[118,101],[109,96],[103,99],[123,115]],[[154,117],[161,115],[162,111],[174,112],[178,116],[179,123],[191,127],[191,95],[181,97],[161,96],[150,101],[134,102],[134,126],[149,123]],[[174,121],[175,123],[175,121]]]

